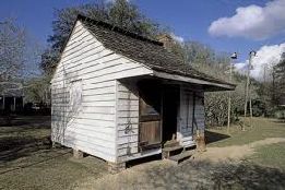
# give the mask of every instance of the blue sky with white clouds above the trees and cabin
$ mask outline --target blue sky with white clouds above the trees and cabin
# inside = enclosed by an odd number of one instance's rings
[[[114,1],[114,0],[106,0]],[[217,51],[238,52],[242,70],[256,50],[252,75],[285,51],[285,0],[129,0],[150,19],[170,27],[180,41],[197,40]],[[52,34],[56,9],[92,0],[1,0],[0,22],[14,17],[43,46]],[[269,63],[273,62],[273,63]],[[270,66],[269,66],[270,67]]]

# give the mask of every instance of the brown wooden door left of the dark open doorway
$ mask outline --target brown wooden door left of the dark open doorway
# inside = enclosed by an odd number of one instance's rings
[[[150,150],[162,146],[162,93],[155,83],[140,88],[139,146]]]

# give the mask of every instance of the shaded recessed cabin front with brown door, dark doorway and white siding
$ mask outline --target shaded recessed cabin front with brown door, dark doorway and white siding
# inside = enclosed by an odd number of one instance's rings
[[[129,112],[124,159],[195,146],[197,131],[204,131],[203,86],[155,76],[118,82],[128,92],[120,104]]]

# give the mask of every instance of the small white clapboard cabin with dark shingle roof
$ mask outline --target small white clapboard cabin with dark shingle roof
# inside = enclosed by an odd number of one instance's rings
[[[115,164],[169,140],[193,146],[204,92],[234,88],[162,43],[79,15],[51,80],[51,140]]]

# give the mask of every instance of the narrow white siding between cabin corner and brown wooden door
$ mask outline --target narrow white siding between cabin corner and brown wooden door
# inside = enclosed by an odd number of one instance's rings
[[[139,152],[139,90],[134,81],[117,81],[117,162],[162,152],[161,149]]]

